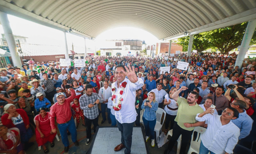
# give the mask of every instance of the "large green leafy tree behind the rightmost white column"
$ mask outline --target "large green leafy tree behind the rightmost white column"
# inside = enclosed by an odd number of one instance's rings
[[[241,45],[247,22],[229,26],[225,28],[211,30],[207,33],[206,39],[211,42],[214,47],[217,47],[221,53],[228,54],[234,48]],[[256,43],[256,31],[253,34],[250,44]]]

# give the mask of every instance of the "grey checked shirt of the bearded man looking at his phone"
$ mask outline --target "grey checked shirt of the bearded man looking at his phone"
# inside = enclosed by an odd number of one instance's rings
[[[88,119],[95,119],[99,115],[98,105],[95,104],[92,108],[89,108],[89,104],[94,104],[96,100],[99,100],[99,103],[103,102],[103,99],[99,97],[97,93],[93,93],[92,96],[87,96],[86,94],[82,95],[79,98],[80,108],[84,110],[84,116]]]

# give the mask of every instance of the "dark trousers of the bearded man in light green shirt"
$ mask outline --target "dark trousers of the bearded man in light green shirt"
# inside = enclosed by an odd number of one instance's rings
[[[177,122],[174,123],[173,131],[172,131],[172,137],[170,139],[170,142],[168,144],[168,149],[172,150],[175,142],[179,139],[181,135],[181,151],[180,154],[185,154],[185,150],[187,147],[187,144],[191,140],[191,135],[193,133],[193,130],[188,131],[185,129],[182,129]]]

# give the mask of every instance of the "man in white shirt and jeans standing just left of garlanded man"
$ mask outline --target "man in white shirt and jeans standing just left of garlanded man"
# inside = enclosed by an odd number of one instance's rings
[[[101,124],[103,124],[106,121],[106,107],[108,106],[108,99],[111,97],[111,87],[108,87],[108,82],[104,81],[103,86],[99,89],[99,97],[101,97],[104,101],[101,103],[101,116],[102,121]],[[111,124],[110,119],[110,109],[107,109],[108,112],[108,123]]]

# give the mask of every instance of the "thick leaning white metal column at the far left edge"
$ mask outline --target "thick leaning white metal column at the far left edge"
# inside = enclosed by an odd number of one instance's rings
[[[12,60],[13,66],[21,67],[21,65],[22,65],[21,60],[20,60],[20,57],[16,50],[16,43],[15,43],[15,40],[14,40],[14,37],[12,34],[10,23],[9,23],[9,20],[7,17],[7,13],[0,11],[0,22],[4,29],[4,34],[5,34],[6,41],[8,43],[9,51],[11,53],[11,60]]]

